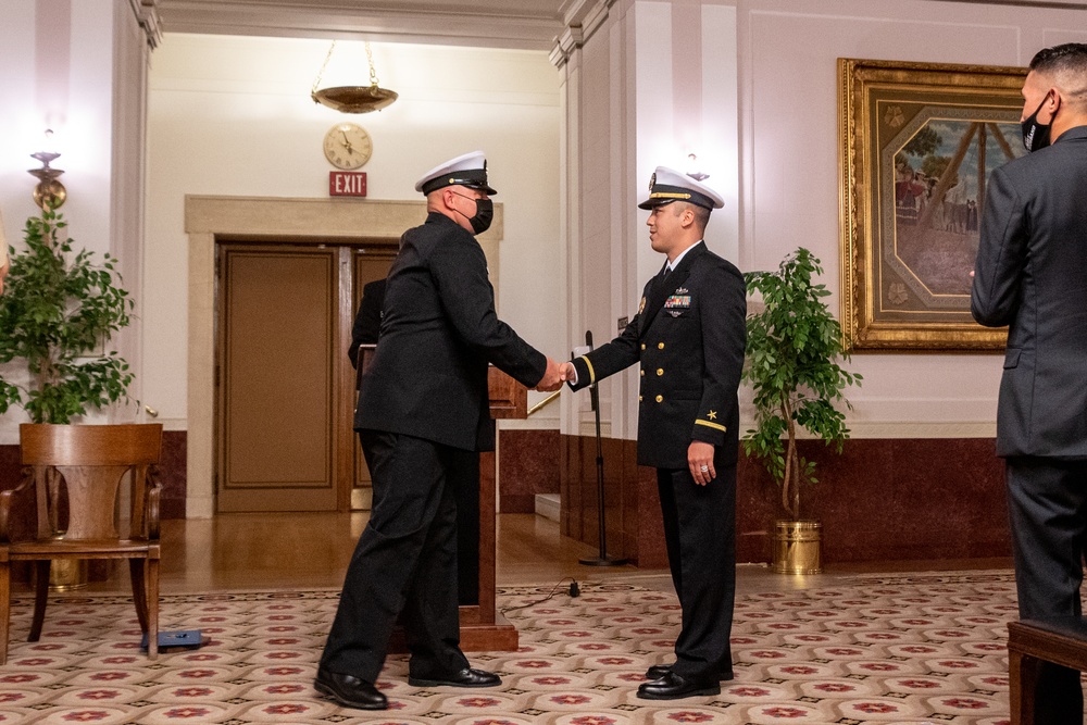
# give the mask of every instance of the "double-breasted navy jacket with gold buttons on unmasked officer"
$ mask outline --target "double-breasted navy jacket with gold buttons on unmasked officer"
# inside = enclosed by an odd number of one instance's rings
[[[717,465],[736,463],[736,390],[747,340],[744,276],[704,242],[646,285],[641,307],[611,342],[574,360],[577,383],[641,362],[638,463],[686,468],[692,440],[717,447]]]

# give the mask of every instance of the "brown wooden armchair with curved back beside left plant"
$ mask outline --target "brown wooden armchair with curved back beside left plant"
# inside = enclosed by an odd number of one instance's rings
[[[159,485],[162,425],[22,425],[23,482],[0,492],[0,664],[8,661],[11,562],[35,562],[37,641],[46,616],[53,559],[127,559],[148,657],[159,652]],[[126,536],[118,533],[118,491],[130,491]],[[35,492],[37,535],[11,540],[14,497]],[[63,496],[66,493],[66,496]],[[66,524],[63,510],[67,510]]]

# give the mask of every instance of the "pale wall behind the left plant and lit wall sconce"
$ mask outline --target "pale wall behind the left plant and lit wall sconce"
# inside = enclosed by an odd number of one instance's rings
[[[140,313],[138,251],[141,243],[139,189],[128,183],[139,176],[141,146],[117,145],[117,138],[139,138],[142,97],[122,93],[115,105],[115,82],[139,86],[147,37],[126,0],[0,0],[0,209],[9,243],[23,246],[27,217],[40,214],[32,191],[37,180],[26,173],[39,167],[30,154],[60,152],[51,165],[64,170],[60,180],[67,201],[59,210],[77,249],[120,258],[128,271],[124,286]],[[115,73],[116,72],[116,73]],[[54,133],[47,140],[45,129]],[[117,184],[116,165],[132,168]],[[138,185],[137,185],[138,187]],[[128,193],[120,203],[117,193]],[[136,217],[135,224],[133,216]],[[0,330],[0,334],[3,334]],[[114,337],[138,374],[138,325]],[[15,365],[3,373],[13,375]],[[140,397],[139,384],[129,389]],[[115,420],[138,416],[135,404],[110,412]],[[99,417],[99,416],[95,416]],[[0,421],[0,443],[18,441],[22,410]]]

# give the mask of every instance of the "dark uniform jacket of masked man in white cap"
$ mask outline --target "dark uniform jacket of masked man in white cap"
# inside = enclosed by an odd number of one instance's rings
[[[432,212],[400,239],[354,428],[493,450],[488,363],[528,387],[547,370],[547,358],[498,318],[475,237]]]

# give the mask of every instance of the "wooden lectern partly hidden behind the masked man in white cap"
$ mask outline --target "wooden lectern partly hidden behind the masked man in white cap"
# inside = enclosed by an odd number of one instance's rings
[[[359,349],[359,380],[370,365],[376,346],[364,345]],[[487,375],[490,397],[490,416],[499,418],[528,417],[528,388],[491,366]],[[496,436],[496,441],[498,440]],[[458,497],[459,576],[461,586],[461,649],[465,652],[504,651],[517,649],[517,630],[496,608],[496,515],[498,479],[497,459],[493,451],[478,454],[478,497]],[[468,471],[474,474],[474,471]],[[476,514],[478,517],[476,517]],[[478,537],[475,528],[478,526]],[[478,541],[478,549],[470,550],[467,541]],[[463,584],[477,583],[475,591],[465,591]],[[397,627],[392,634],[390,651],[405,652],[403,632]]]

